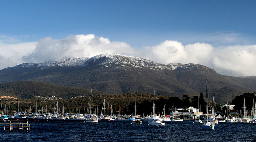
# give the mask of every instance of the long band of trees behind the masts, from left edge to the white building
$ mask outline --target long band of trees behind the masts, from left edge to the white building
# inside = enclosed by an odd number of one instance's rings
[[[73,113],[87,113],[89,96],[80,96],[74,99],[65,99],[64,104],[64,113],[73,112]],[[199,99],[199,100],[198,100]],[[105,108],[107,108],[108,113],[119,114],[121,107],[122,114],[133,114],[135,112],[135,93],[127,94],[118,94],[118,95],[93,95],[92,97],[92,111],[93,113],[100,114],[102,110],[103,101],[105,100]],[[61,100],[43,100],[43,99],[2,99],[2,108],[6,112],[11,112],[11,107],[14,112],[21,111],[28,112],[28,109],[31,107],[32,112],[38,112],[43,109],[43,112],[54,112],[54,108],[58,101],[59,110],[62,112],[62,107],[64,99]],[[163,107],[166,104],[166,114],[169,113],[168,109],[170,108],[184,108],[186,111],[187,108],[193,106],[194,108],[198,107],[205,113],[206,111],[206,102],[202,93],[199,96],[193,96],[189,98],[187,95],[183,95],[183,98],[178,97],[166,97],[155,95],[155,106],[156,112],[161,114]],[[39,105],[41,108],[39,108]],[[47,110],[46,110],[47,105]],[[152,94],[142,94],[137,93],[137,115],[146,116],[151,115],[153,106],[153,95]],[[42,108],[43,107],[43,108]],[[69,108],[69,110],[67,110]],[[10,111],[9,111],[10,110]]]

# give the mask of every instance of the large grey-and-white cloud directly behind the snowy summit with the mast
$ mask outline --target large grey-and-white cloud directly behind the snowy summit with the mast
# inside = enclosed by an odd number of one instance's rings
[[[35,50],[23,60],[27,62],[44,62],[63,57],[95,56],[102,53],[117,53],[134,55],[134,49],[125,42],[109,41],[107,38],[95,37],[95,35],[70,35],[65,39],[52,39],[46,37],[40,39]]]

